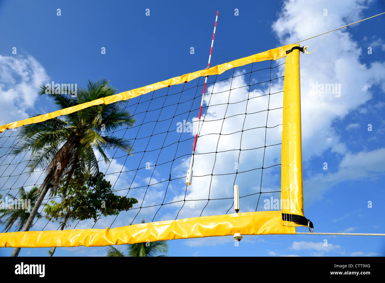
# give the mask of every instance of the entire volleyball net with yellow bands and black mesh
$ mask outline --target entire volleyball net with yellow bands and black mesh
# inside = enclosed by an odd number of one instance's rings
[[[108,96],[107,82],[50,93],[69,107],[0,127],[0,246],[313,228],[303,211],[301,51],[286,45]]]

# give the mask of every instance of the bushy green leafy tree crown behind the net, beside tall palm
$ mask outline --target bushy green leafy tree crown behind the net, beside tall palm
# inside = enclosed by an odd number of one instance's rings
[[[120,211],[127,211],[137,203],[136,198],[115,195],[111,191],[111,184],[104,179],[103,173],[88,178],[84,183],[71,179],[68,188],[62,185],[57,194],[65,195],[58,202],[52,200],[45,207],[46,218],[60,223],[70,220],[96,221],[100,215],[118,215]]]

